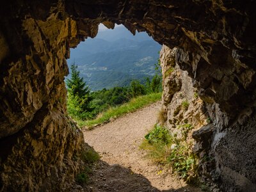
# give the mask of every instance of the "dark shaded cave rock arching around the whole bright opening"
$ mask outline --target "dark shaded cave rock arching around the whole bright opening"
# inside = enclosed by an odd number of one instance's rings
[[[212,120],[216,180],[224,189],[255,189],[255,7],[241,0],[1,2],[0,189],[64,190],[74,179],[72,156],[83,139],[67,117],[65,59],[97,35],[100,22],[178,47],[176,62]]]

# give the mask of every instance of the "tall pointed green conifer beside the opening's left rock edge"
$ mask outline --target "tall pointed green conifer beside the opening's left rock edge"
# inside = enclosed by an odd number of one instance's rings
[[[85,120],[92,116],[90,112],[94,109],[91,105],[93,98],[89,86],[86,86],[83,77],[79,76],[80,72],[77,70],[77,65],[73,63],[70,68],[71,78],[67,79],[66,82],[68,87],[68,114],[72,118]]]

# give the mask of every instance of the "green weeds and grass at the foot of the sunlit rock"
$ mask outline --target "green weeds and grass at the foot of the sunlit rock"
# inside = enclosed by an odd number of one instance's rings
[[[140,148],[147,150],[147,156],[156,163],[171,166],[173,172],[190,182],[196,177],[197,161],[191,150],[193,143],[186,139],[193,126],[184,124],[178,128],[182,131],[182,138],[179,139],[177,134],[172,135],[164,127],[155,125],[154,129],[145,136]]]

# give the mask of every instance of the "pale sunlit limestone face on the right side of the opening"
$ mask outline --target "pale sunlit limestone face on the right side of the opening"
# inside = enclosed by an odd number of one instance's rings
[[[204,102],[193,88],[188,72],[180,69],[175,61],[176,48],[163,45],[160,61],[163,73],[163,108],[166,114],[165,125],[172,131],[175,127],[191,124],[199,128],[207,124]]]

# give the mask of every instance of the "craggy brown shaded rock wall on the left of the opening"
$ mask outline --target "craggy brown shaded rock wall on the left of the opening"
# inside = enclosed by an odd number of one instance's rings
[[[1,10],[9,13],[0,24],[0,191],[66,191],[83,165],[75,158],[83,133],[68,118],[63,81],[76,25],[58,13],[22,15],[19,3]]]

